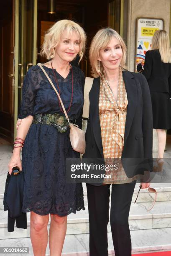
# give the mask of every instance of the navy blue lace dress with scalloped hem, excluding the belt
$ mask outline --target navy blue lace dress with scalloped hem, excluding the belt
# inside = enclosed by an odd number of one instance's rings
[[[53,70],[43,66],[56,86]],[[68,112],[71,120],[78,119],[84,97],[84,74],[73,69],[73,101]],[[56,70],[54,69],[54,72]],[[71,69],[64,79],[56,72],[61,99],[66,110],[71,100]],[[57,88],[57,86],[56,86]],[[57,89],[58,90],[58,89]],[[61,113],[56,92],[40,67],[31,67],[23,82],[23,98],[18,118],[41,113]],[[69,140],[69,128],[64,133],[53,125],[32,123],[22,151],[22,168],[25,174],[23,212],[33,211],[39,215],[49,213],[65,216],[84,209],[82,184],[66,183],[66,158],[77,158]]]

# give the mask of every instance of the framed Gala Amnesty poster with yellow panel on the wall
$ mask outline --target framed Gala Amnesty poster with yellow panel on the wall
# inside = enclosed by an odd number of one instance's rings
[[[156,30],[163,29],[163,23],[160,18],[137,18],[135,71],[139,63],[144,64],[146,51],[151,50],[152,37]]]

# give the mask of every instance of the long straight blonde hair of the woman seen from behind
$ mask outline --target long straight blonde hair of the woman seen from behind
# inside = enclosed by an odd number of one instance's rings
[[[152,38],[152,50],[158,49],[161,55],[161,61],[171,63],[171,45],[168,33],[165,30],[158,29]]]

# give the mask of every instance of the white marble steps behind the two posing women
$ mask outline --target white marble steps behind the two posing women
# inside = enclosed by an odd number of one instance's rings
[[[87,191],[84,187],[85,211],[70,214],[67,221],[67,233],[64,243],[63,255],[88,255],[89,251],[89,219],[87,207]],[[136,184],[130,208],[129,225],[132,238],[133,253],[143,251],[171,251],[171,184],[151,184],[157,189],[157,201],[153,209],[151,206],[154,194],[147,189],[141,190],[137,202],[139,184]],[[3,211],[3,194],[0,194],[0,246],[26,246],[30,248],[29,255],[33,255],[30,241],[30,214],[27,214],[27,230],[15,228],[7,231],[7,212]],[[48,223],[48,229],[49,229]],[[110,223],[108,225],[109,253],[114,254]],[[49,248],[47,248],[47,255]]]

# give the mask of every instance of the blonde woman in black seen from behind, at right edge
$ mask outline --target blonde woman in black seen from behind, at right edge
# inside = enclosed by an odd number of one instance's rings
[[[138,64],[137,70],[145,76],[150,88],[153,128],[158,135],[158,165],[162,166],[166,145],[165,130],[171,129],[171,46],[166,31],[155,32],[152,50],[145,55],[144,70],[141,64]]]

